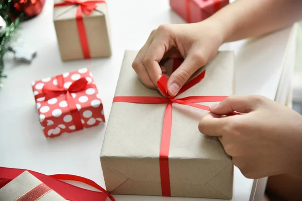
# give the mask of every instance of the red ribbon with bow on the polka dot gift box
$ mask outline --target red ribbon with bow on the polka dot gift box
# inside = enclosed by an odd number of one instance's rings
[[[63,93],[66,93],[66,102],[68,105],[68,109],[70,111],[70,114],[72,116],[72,122],[74,123],[75,130],[81,130],[83,129],[83,124],[81,122],[81,116],[78,111],[77,106],[75,105],[75,102],[73,100],[73,97],[71,95],[71,92],[78,92],[85,90],[87,88],[94,88],[94,84],[88,84],[88,81],[85,77],[82,77],[78,80],[75,80],[72,82],[72,84],[65,89],[64,88],[64,78],[63,75],[56,76],[58,86],[55,86],[53,84],[46,84],[43,86],[42,91],[43,93],[40,93],[38,95],[35,95],[35,98],[44,97],[45,100],[48,100],[53,97],[57,97]]]

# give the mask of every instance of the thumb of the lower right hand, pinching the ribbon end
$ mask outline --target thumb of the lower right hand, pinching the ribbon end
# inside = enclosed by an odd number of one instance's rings
[[[249,113],[254,111],[262,97],[254,95],[231,95],[225,98],[219,105],[210,107],[210,111],[218,115],[227,115],[234,111],[239,113]]]

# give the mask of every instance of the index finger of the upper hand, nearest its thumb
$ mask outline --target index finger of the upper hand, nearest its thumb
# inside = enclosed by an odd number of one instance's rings
[[[157,81],[162,76],[162,70],[159,62],[163,59],[164,54],[169,50],[171,41],[171,31],[168,26],[160,26],[154,36],[154,40],[149,46],[143,59],[143,64],[148,71],[151,81],[157,86]]]

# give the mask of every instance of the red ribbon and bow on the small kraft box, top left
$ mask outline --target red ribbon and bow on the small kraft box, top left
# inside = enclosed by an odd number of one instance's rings
[[[64,0],[63,3],[55,4],[54,7],[60,6],[71,6],[77,5],[77,13],[75,14],[75,19],[77,19],[77,27],[79,33],[79,39],[82,46],[83,56],[85,59],[91,58],[89,45],[87,41],[87,34],[85,29],[85,24],[83,21],[83,12],[85,15],[89,16],[93,10],[97,8],[97,3],[106,4],[106,1],[98,0],[98,1],[80,1],[80,0]]]

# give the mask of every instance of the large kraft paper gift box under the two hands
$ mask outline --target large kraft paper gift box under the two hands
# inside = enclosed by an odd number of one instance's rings
[[[137,78],[131,68],[136,54],[135,51],[125,52],[114,99],[120,96],[163,97],[158,90],[146,88]],[[166,64],[174,65],[174,62]],[[232,51],[218,52],[197,74],[204,69],[204,78],[176,98],[233,94]],[[200,104],[216,103],[219,102]],[[100,155],[106,189],[113,194],[232,198],[234,166],[231,157],[217,138],[198,131],[199,120],[208,111],[177,103],[172,106],[167,166],[167,160],[162,158],[161,162],[160,159],[167,104],[113,103]],[[168,171],[162,174],[160,164],[166,170],[168,167]]]

